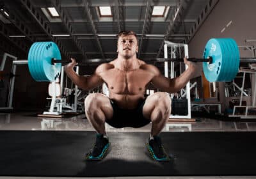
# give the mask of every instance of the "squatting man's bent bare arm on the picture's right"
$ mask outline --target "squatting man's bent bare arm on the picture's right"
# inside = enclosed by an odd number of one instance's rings
[[[168,93],[179,91],[180,89],[184,88],[184,86],[186,86],[188,81],[195,75],[197,70],[196,64],[188,61],[186,58],[184,58],[184,63],[188,65],[188,69],[185,70],[179,77],[175,77],[173,79],[164,77],[156,68],[156,66],[151,66],[151,70],[154,73],[154,77],[152,78],[151,82],[154,84],[154,86],[156,86],[156,88],[159,88]]]

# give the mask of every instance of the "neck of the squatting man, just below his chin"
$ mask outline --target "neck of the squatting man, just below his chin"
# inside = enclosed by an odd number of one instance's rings
[[[122,56],[118,56],[116,65],[117,68],[125,72],[136,70],[140,67],[138,63],[138,58],[136,58],[136,56],[132,56],[128,59],[125,59]]]

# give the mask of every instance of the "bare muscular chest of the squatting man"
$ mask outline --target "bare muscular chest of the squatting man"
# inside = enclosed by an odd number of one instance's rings
[[[118,95],[138,95],[144,93],[145,87],[152,77],[144,70],[124,72],[109,70],[103,75],[103,80],[108,84],[109,91]]]

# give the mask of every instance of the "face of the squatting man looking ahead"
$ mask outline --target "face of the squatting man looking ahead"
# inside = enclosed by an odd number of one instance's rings
[[[118,38],[117,51],[125,59],[136,56],[138,52],[138,42],[134,35],[122,35]]]

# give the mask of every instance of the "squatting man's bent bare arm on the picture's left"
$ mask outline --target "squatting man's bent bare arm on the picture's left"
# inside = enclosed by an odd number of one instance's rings
[[[102,65],[97,67],[93,75],[91,75],[90,77],[84,77],[83,75],[77,75],[76,72],[74,72],[74,66],[76,65],[76,61],[73,58],[71,58],[71,61],[71,63],[65,65],[65,72],[72,80],[72,82],[74,82],[74,84],[78,86],[78,88],[90,90],[96,88],[97,86],[100,86],[100,84],[103,83],[103,80],[99,75],[99,70],[102,68]]]

